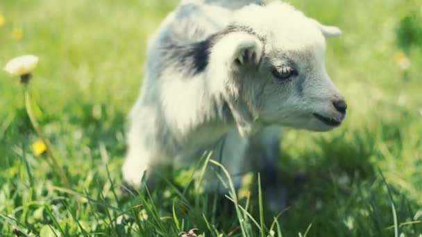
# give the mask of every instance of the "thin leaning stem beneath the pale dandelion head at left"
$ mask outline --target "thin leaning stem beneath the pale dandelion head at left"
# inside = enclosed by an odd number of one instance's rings
[[[29,94],[28,85],[25,84],[24,88],[25,88],[25,108],[26,108],[26,113],[28,114],[29,120],[31,121],[33,128],[35,132],[37,133],[38,137],[40,137],[40,139],[44,142],[46,146],[47,156],[50,158],[51,163],[53,164],[54,168],[56,168],[58,174],[62,178],[63,184],[67,188],[71,189],[69,180],[67,179],[67,176],[65,174],[65,170],[63,170],[63,168],[59,166],[56,155],[53,152],[51,143],[49,139],[47,139],[47,137],[45,136],[44,131],[42,130],[40,124],[37,121],[37,118],[35,117],[35,114],[33,112],[32,105],[31,105],[31,96]]]

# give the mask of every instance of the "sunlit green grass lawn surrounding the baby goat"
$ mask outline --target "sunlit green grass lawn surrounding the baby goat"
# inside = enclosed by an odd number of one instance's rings
[[[193,228],[205,236],[421,235],[421,3],[291,2],[344,31],[328,40],[327,67],[350,109],[333,132],[286,132],[279,166],[290,202],[274,221],[255,186],[251,200],[217,215],[214,195],[200,191],[201,164],[193,179],[174,170],[151,192],[121,194],[126,113],[146,39],[176,1],[0,1],[0,66],[40,56],[31,81],[36,114],[72,186],[33,155],[23,88],[0,72],[0,236],[177,236]],[[12,38],[15,28],[22,39]]]

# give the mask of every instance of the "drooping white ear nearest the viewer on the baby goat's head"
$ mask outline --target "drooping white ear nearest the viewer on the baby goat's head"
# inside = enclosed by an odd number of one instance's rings
[[[243,68],[258,67],[264,46],[255,35],[232,32],[222,35],[211,50],[210,90],[221,93],[228,103],[239,134],[243,137],[253,129],[252,109],[244,101],[241,93],[242,78],[237,77]]]

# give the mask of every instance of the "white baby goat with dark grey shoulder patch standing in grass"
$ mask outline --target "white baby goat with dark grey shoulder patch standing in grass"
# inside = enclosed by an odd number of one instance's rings
[[[339,34],[287,3],[180,3],[149,42],[124,181],[139,186],[144,172],[221,150],[235,185],[251,166],[276,185],[280,126],[326,131],[344,119],[324,66],[324,36]]]

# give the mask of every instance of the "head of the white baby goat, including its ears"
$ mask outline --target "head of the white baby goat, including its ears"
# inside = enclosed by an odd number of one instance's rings
[[[346,102],[325,69],[323,26],[286,3],[239,10],[211,50],[212,88],[223,91],[241,134],[278,124],[326,131],[340,125]]]

